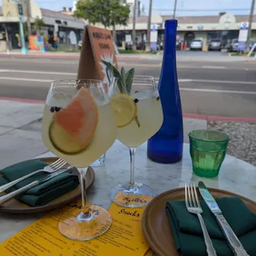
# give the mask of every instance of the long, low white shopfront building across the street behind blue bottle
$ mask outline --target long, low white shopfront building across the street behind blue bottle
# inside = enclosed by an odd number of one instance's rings
[[[158,40],[164,40],[164,21],[172,19],[172,16],[153,15],[151,24],[158,29]],[[221,13],[219,16],[203,16],[203,17],[176,17],[178,20],[178,36],[177,40],[183,40],[187,45],[194,40],[202,40],[203,49],[207,49],[207,45],[211,40],[221,40],[222,44],[227,44],[232,39],[239,36],[239,28],[242,22],[248,21],[248,15],[233,15],[231,13]],[[145,41],[148,17],[136,18],[136,41]],[[116,26],[117,38],[120,41],[129,38],[132,32],[132,18],[130,18],[127,26]],[[251,40],[256,41],[256,16],[252,24]]]

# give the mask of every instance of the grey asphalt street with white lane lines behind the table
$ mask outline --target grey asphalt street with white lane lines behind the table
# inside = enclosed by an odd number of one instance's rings
[[[225,61],[228,58],[229,61]],[[256,117],[256,63],[230,61],[220,53],[178,53],[183,112]],[[119,67],[159,80],[162,60],[122,55]],[[0,56],[0,97],[45,100],[50,81],[76,78],[78,58]]]

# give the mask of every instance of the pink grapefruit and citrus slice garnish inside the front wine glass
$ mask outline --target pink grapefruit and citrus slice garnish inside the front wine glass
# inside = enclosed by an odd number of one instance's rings
[[[97,121],[97,103],[86,88],[80,88],[68,107],[55,113],[50,140],[60,152],[78,154],[91,142]]]

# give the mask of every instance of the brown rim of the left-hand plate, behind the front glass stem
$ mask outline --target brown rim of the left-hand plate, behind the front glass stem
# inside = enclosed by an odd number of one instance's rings
[[[59,159],[58,157],[42,157],[42,158],[36,158],[39,159],[40,161],[44,162],[45,161],[52,161],[55,162],[57,159]],[[28,161],[31,160],[36,160],[36,159],[27,159],[25,161],[21,161],[18,163],[26,163]],[[16,163],[16,164],[18,164]],[[12,166],[14,164],[11,164],[9,166]],[[75,167],[74,167],[75,168]],[[77,168],[76,168],[77,169]],[[88,191],[88,189],[90,187],[92,187],[92,184],[95,181],[95,172],[93,170],[93,168],[91,166],[88,167],[88,171],[90,172],[90,175],[92,177],[90,183],[88,184],[88,187],[86,187],[86,191]],[[69,197],[63,201],[59,201],[58,203],[50,203],[49,205],[44,205],[44,206],[36,206],[36,207],[32,207],[32,206],[27,206],[26,208],[17,208],[17,207],[2,207],[0,206],[0,213],[1,212],[8,212],[8,213],[36,213],[36,212],[46,212],[46,211],[50,211],[50,210],[54,210],[55,208],[59,207],[59,206],[64,206],[65,204],[67,204],[69,201],[73,201],[75,199],[77,199],[79,196],[81,195],[81,193],[74,195],[73,197]]]

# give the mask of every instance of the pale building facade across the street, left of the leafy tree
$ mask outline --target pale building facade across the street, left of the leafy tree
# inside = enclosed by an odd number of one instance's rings
[[[19,1],[22,5],[23,16],[22,22],[27,21],[26,0]],[[53,45],[53,39],[58,37],[58,45],[60,49],[69,49],[70,40],[69,33],[73,31],[77,36],[77,41],[82,40],[83,28],[85,21],[81,21],[72,15],[63,12],[54,12],[40,8],[35,0],[31,0],[31,28],[35,33],[34,23],[36,19],[42,19],[45,26],[40,27],[40,34],[45,36],[49,41],[49,45]],[[17,2],[12,0],[2,0],[2,8],[0,8],[0,40],[9,39],[9,49],[18,49],[21,47],[20,29],[19,29],[19,13]],[[26,25],[25,25],[26,26]],[[25,33],[26,34],[26,33]],[[27,35],[26,42],[28,41]],[[3,44],[2,44],[3,45]],[[0,49],[2,50],[2,49]]]

